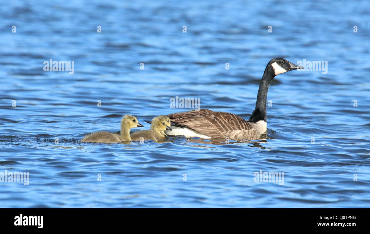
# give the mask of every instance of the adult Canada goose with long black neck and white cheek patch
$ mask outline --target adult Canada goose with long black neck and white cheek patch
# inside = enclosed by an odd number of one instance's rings
[[[228,112],[192,110],[169,114],[173,127],[171,132],[165,133],[185,137],[259,139],[267,130],[266,99],[271,81],[281,73],[302,68],[284,58],[270,60],[259,85],[256,108],[248,121]]]

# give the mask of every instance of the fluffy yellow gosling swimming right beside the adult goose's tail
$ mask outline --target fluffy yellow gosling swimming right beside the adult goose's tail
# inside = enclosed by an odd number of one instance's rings
[[[150,122],[150,121],[149,121]],[[157,116],[151,121],[150,130],[137,131],[131,134],[133,141],[154,140],[160,141],[166,138],[165,130],[171,131],[171,121],[167,116]]]

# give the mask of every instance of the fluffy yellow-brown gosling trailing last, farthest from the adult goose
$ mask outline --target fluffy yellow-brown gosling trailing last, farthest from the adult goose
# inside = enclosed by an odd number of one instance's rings
[[[121,120],[121,134],[100,131],[87,134],[81,142],[120,143],[123,141],[131,141],[130,129],[135,127],[144,126],[138,122],[135,116],[125,115]]]

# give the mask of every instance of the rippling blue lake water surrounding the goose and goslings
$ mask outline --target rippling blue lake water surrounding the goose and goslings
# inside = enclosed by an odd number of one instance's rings
[[[0,207],[370,207],[369,1],[72,2],[0,3]],[[80,142],[176,96],[248,119],[274,57],[328,65],[275,77],[266,139]]]

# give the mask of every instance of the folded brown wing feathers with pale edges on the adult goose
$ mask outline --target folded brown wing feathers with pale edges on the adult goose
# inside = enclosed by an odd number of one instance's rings
[[[172,122],[194,129],[209,137],[223,137],[226,131],[252,130],[252,125],[240,116],[208,109],[169,114]]]

